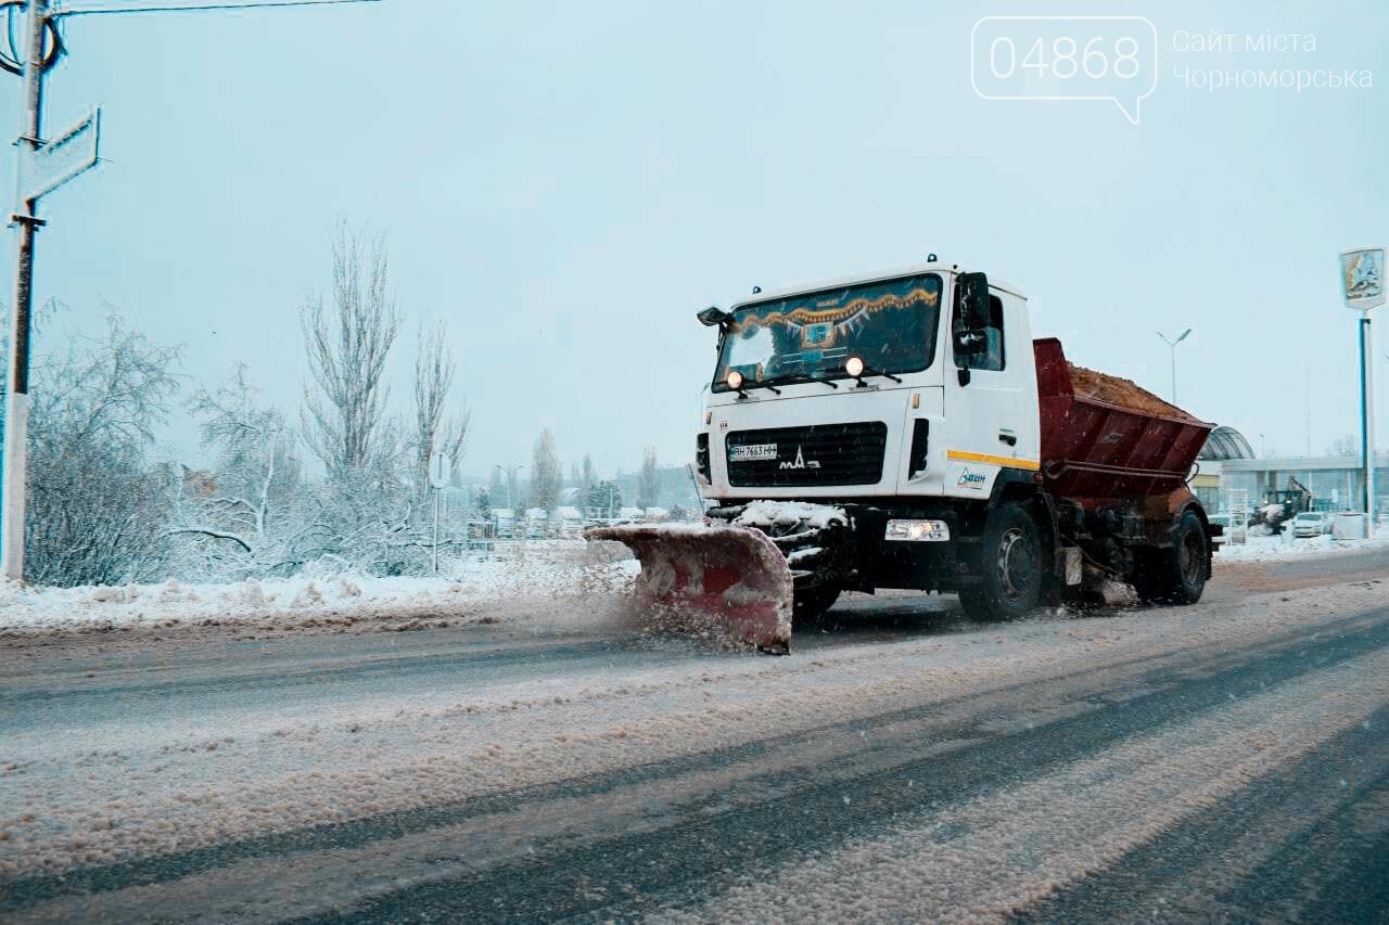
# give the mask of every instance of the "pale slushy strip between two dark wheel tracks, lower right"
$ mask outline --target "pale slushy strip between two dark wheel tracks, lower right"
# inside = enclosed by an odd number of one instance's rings
[[[1133,846],[1161,839],[1174,826],[1190,819],[1204,825],[1211,807],[1257,788],[1281,765],[1318,767],[1328,754],[1349,750],[1367,760],[1367,769],[1374,767],[1370,761],[1389,749],[1361,721],[1389,719],[1386,668],[1382,651],[1343,662],[965,806],[910,814],[883,832],[783,864],[774,876],[740,883],[704,906],[674,903],[656,918],[999,921],[1065,888],[1082,903],[1056,910],[1053,921],[1250,921],[1258,912],[1285,921],[1286,910],[1238,910],[1192,896],[1183,897],[1185,906],[1165,904],[1145,896],[1142,881],[1136,893],[1115,889],[1106,896],[1110,903],[1095,908],[1083,904],[1085,878],[1103,879]],[[1242,832],[1208,828],[1217,844]],[[1210,843],[1188,847],[1196,857],[1211,857]],[[1245,861],[1233,862],[1239,885],[1246,883]],[[1242,872],[1253,874],[1247,865]]]

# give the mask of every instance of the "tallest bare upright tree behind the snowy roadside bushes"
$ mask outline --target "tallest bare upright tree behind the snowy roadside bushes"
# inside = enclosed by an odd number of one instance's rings
[[[332,307],[322,296],[300,312],[314,389],[304,388],[303,432],[331,476],[382,464],[388,444],[383,381],[400,332],[382,238],[365,239],[346,224],[333,240]]]

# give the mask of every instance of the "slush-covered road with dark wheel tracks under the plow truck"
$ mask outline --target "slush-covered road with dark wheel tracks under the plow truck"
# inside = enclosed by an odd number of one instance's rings
[[[1372,919],[1378,574],[1001,626],[854,599],[790,658],[515,603],[0,640],[0,917]]]

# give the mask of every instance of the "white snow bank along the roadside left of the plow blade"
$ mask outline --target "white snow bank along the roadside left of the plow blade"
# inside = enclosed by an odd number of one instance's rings
[[[624,588],[636,560],[590,554],[582,542],[521,544],[489,556],[453,560],[440,575],[371,576],[310,569],[283,579],[235,583],[32,588],[0,582],[0,635],[96,626],[181,624],[296,624],[315,615],[457,611],[463,604],[563,596]]]

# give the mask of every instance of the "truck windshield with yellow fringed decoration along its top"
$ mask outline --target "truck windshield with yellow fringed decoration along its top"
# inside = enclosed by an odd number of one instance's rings
[[[921,274],[743,306],[720,344],[714,392],[732,369],[775,383],[845,375],[858,357],[875,372],[918,372],[935,358],[940,276]]]

